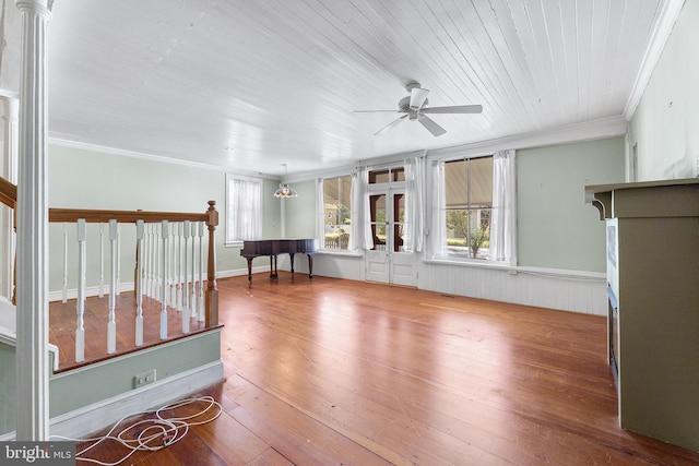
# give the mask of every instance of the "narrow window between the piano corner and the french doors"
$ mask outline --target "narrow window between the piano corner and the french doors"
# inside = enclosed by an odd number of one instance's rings
[[[347,249],[352,232],[352,177],[327,178],[323,190],[324,249]]]

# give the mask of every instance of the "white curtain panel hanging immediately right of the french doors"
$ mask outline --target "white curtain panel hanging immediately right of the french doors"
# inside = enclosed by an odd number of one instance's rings
[[[405,160],[405,218],[403,222],[403,250],[420,252],[425,231],[425,174],[423,158]]]

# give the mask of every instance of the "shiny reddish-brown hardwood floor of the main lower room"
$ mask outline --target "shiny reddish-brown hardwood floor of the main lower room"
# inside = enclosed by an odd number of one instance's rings
[[[222,416],[128,464],[699,463],[618,427],[602,318],[288,273],[218,290]]]

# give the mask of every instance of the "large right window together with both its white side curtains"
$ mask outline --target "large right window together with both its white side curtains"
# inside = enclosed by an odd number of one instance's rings
[[[431,255],[514,265],[514,151],[433,164]]]

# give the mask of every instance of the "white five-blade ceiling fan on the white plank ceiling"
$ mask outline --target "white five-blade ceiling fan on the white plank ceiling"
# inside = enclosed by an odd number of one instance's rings
[[[433,135],[440,136],[447,132],[442,127],[437,124],[435,120],[429,118],[426,113],[481,113],[483,106],[481,105],[453,105],[449,107],[427,107],[427,94],[429,89],[424,89],[417,82],[410,82],[405,85],[405,89],[411,95],[403,97],[398,103],[398,110],[354,110],[353,113],[374,113],[374,112],[399,112],[405,113],[398,119],[391,121],[386,127],[374,133],[378,136],[383,134],[393,128],[395,128],[401,121],[407,118],[411,121],[418,121],[423,127],[427,129]]]

